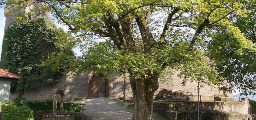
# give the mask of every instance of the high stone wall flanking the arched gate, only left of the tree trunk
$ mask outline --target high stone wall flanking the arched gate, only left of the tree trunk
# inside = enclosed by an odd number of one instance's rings
[[[27,100],[47,100],[53,99],[53,90],[64,90],[64,100],[74,100],[76,98],[88,97],[88,80],[93,74],[82,74],[81,76],[70,77],[70,74],[63,75],[53,86],[38,88],[34,91],[25,90],[23,98]],[[110,85],[113,84],[113,88]],[[109,97],[132,100],[132,90],[130,81],[123,76],[111,76],[109,79]],[[10,100],[16,98],[18,94],[11,93]]]

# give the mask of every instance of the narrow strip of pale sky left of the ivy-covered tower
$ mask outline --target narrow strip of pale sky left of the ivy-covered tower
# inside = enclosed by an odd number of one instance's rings
[[[4,37],[4,23],[5,23],[5,17],[4,17],[4,8],[0,8],[0,54],[2,53],[2,42]],[[1,56],[0,56],[1,58]]]

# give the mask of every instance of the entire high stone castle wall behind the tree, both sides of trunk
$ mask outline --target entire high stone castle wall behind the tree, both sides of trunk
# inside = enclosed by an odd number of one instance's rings
[[[166,76],[166,81],[159,80],[159,88],[155,92],[155,95],[164,97],[166,92],[163,90],[169,90],[175,93],[182,90],[182,92],[188,95],[197,95],[197,82],[188,82],[186,86],[182,86],[182,79],[174,74],[172,76]],[[69,76],[69,77],[68,77]],[[46,100],[52,99],[53,89],[58,88],[64,90],[64,100],[73,100],[76,98],[88,97],[88,80],[93,74],[82,74],[81,76],[70,77],[69,74],[62,76],[58,83],[53,86],[47,86],[39,88],[34,91],[26,90],[23,97],[28,100]],[[111,88],[111,84],[113,88]],[[170,85],[172,84],[172,85]],[[124,100],[132,100],[132,90],[130,87],[130,80],[128,77],[121,75],[112,75],[109,79],[109,97],[110,98],[122,98]],[[223,94],[218,92],[217,88],[204,85],[200,89],[200,95],[214,96],[214,94]],[[10,94],[10,99],[13,99],[17,94]],[[190,97],[191,100],[197,100],[197,97]],[[205,98],[205,97],[204,97]],[[212,99],[212,98],[211,98]]]

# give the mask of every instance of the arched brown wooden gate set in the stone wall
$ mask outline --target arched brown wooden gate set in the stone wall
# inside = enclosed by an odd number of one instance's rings
[[[101,82],[102,76],[92,76],[88,85],[88,97],[108,97],[109,80]]]

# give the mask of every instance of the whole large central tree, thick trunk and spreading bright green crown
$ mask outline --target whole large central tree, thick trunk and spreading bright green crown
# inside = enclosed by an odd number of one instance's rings
[[[3,1],[4,2],[4,1]],[[44,2],[59,22],[69,27],[74,41],[59,41],[61,48],[80,47],[82,56],[65,52],[47,64],[68,65],[76,73],[123,73],[133,92],[133,120],[152,120],[153,95],[165,68],[180,72],[186,80],[215,84],[245,85],[230,66],[236,58],[248,56],[243,64],[255,64],[255,46],[233,23],[246,17],[246,0],[32,0]],[[31,4],[29,0],[8,0],[6,4]],[[232,19],[230,19],[232,17]],[[248,16],[251,17],[251,16]],[[255,17],[252,19],[255,19]],[[254,28],[255,29],[255,28]],[[96,39],[96,40],[95,40]],[[100,40],[104,42],[98,42]],[[230,43],[232,46],[222,46]],[[225,48],[226,47],[226,48]],[[221,50],[224,48],[224,50]],[[63,49],[65,50],[65,49]],[[236,58],[224,53],[234,53]],[[223,53],[223,54],[219,54]],[[214,55],[216,54],[216,55]],[[249,57],[250,56],[250,57]],[[65,62],[71,61],[71,62]],[[227,63],[227,61],[230,61]],[[226,69],[231,67],[231,69]],[[223,69],[221,69],[223,68]],[[58,66],[56,66],[58,69]],[[254,76],[254,71],[249,70]],[[230,73],[232,72],[232,73]],[[254,77],[247,79],[255,88]],[[228,90],[228,89],[226,89]]]

